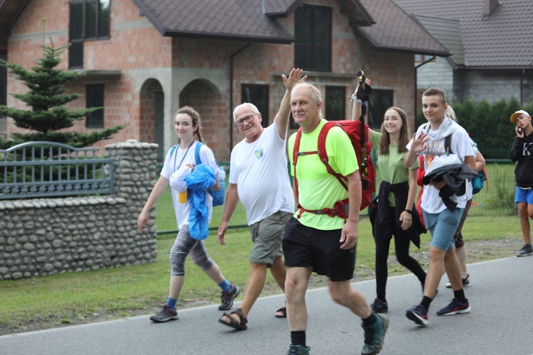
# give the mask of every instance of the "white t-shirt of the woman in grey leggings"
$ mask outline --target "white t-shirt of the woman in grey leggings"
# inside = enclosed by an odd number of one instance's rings
[[[163,164],[163,169],[161,170],[161,176],[171,180],[171,175],[180,168],[183,168],[186,164],[196,165],[196,160],[194,156],[196,144],[198,141],[194,141],[193,145],[190,148],[178,147],[174,150],[171,155],[172,149],[166,153],[165,163]],[[200,147],[200,161],[206,165],[211,165],[215,169],[216,173],[219,173],[219,168],[215,161],[215,155],[213,155],[211,149],[205,144]],[[185,178],[185,176],[183,176]],[[176,213],[176,222],[178,224],[178,229],[181,229],[181,226],[189,224],[189,212],[190,206],[188,202],[180,203],[178,200],[178,191],[171,188],[172,202],[174,205],[174,212]],[[212,197],[210,194],[206,194],[207,204],[209,208],[209,220],[211,220],[212,215]]]

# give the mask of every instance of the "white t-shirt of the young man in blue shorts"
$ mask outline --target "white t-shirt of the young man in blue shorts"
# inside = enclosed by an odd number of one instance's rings
[[[472,142],[470,141],[470,138],[468,138],[468,133],[466,133],[465,129],[463,127],[459,126],[455,122],[453,122],[453,133],[451,136],[451,153],[456,154],[459,159],[464,163],[465,157],[467,156],[473,156],[473,150],[472,150]],[[416,135],[419,135],[422,132],[426,132],[426,124],[422,124],[419,129],[416,131]],[[429,130],[429,137],[438,136],[437,131]],[[422,153],[419,153],[419,155],[424,156],[424,170],[428,170],[429,165],[431,162],[437,158],[440,155],[446,155],[446,149],[444,147],[444,137],[442,136],[440,139],[433,139],[430,138],[430,140],[426,143],[427,148]],[[409,150],[411,148],[411,141],[407,144],[407,149]],[[467,187],[468,190],[468,187]],[[472,187],[470,184],[470,194],[465,193],[464,195],[457,196],[453,195],[450,197],[450,200],[455,202],[457,204],[458,208],[465,208],[466,202],[469,198],[472,196]],[[431,185],[426,185],[424,187],[424,193],[422,194],[422,203],[421,207],[426,211],[427,213],[439,213],[442,212],[444,209],[446,209],[446,205],[444,204],[441,197],[438,195],[439,190],[437,190],[435,187]],[[468,197],[470,195],[470,197]]]

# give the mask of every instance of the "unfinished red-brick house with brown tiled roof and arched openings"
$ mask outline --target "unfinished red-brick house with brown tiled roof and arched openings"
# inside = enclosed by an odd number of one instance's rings
[[[63,68],[88,72],[71,85],[85,94],[71,106],[104,107],[75,129],[128,124],[102,146],[156,142],[159,159],[176,143],[173,112],[188,104],[202,116],[203,141],[229,160],[242,139],[232,109],[253,102],[270,124],[292,67],[321,89],[329,119],[349,116],[361,67],[375,88],[370,123],[394,104],[414,124],[414,55],[448,55],[392,0],[0,1],[0,55],[31,67],[43,38],[70,43]],[[26,87],[9,75],[4,87],[7,104],[21,106],[5,91]],[[16,127],[8,119],[5,129]]]

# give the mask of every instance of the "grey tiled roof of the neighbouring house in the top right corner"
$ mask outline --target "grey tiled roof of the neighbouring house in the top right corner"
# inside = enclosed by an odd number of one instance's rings
[[[394,0],[407,13],[458,21],[466,67],[520,68],[533,61],[533,6],[531,0],[499,0],[484,16],[490,0]],[[421,20],[421,23],[426,23]],[[426,23],[427,25],[427,23]],[[434,31],[431,26],[428,31]],[[438,34],[435,33],[438,37]],[[454,55],[457,48],[448,48]],[[457,53],[458,54],[458,53]]]

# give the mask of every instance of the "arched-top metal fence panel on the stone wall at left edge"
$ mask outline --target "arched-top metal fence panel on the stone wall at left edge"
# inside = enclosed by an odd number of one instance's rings
[[[0,150],[0,200],[112,194],[114,161],[98,151],[46,141]]]

